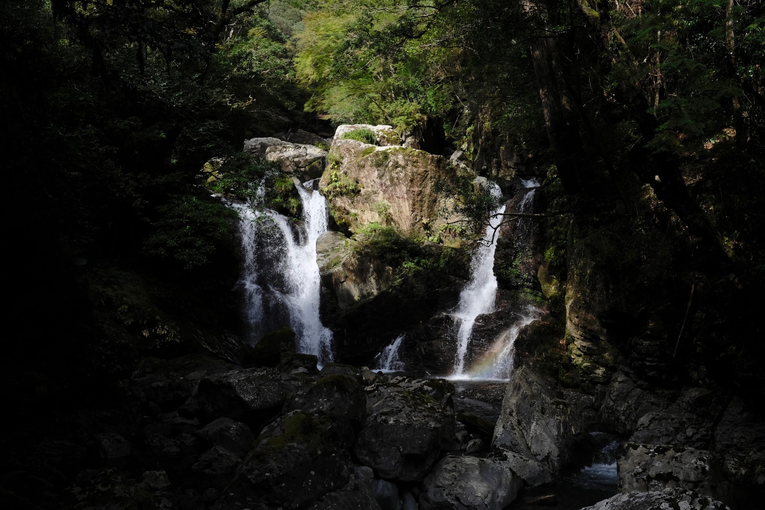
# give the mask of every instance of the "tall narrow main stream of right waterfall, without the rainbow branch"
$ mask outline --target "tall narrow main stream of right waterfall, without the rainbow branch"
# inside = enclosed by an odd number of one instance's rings
[[[501,197],[500,187],[489,183],[489,191],[493,197]],[[492,216],[505,212],[505,204],[493,211]],[[470,333],[473,325],[481,313],[490,313],[494,310],[494,297],[496,294],[496,276],[494,276],[494,252],[499,232],[496,226],[502,223],[503,216],[490,217],[489,225],[484,232],[483,243],[478,247],[470,261],[472,280],[460,294],[460,303],[454,317],[460,321],[460,329],[457,331],[457,362],[454,365],[454,375],[464,375],[465,354],[467,343],[470,341]]]

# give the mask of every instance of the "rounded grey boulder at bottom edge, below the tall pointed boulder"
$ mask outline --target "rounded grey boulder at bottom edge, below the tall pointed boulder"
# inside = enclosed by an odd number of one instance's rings
[[[422,510],[502,510],[521,486],[501,460],[448,456],[423,480],[419,504]]]

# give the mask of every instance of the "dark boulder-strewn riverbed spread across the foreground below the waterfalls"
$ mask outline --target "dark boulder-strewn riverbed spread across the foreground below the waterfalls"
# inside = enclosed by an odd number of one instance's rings
[[[731,483],[719,454],[593,434],[529,367],[507,383],[319,370],[291,334],[262,342],[272,366],[144,359],[111,407],[60,417],[70,434],[26,469],[66,508],[728,508],[712,501]]]

